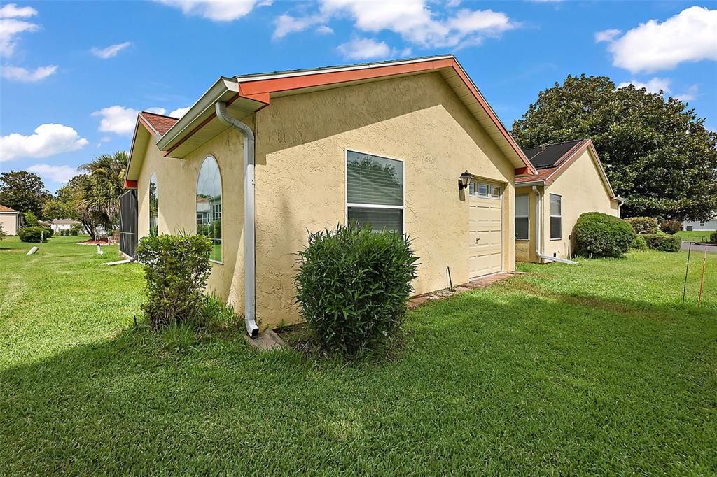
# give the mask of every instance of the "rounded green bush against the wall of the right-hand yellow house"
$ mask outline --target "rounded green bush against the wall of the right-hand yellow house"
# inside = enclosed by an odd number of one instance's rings
[[[619,257],[630,251],[635,239],[635,231],[629,223],[600,212],[581,214],[573,233],[575,251],[583,256]]]

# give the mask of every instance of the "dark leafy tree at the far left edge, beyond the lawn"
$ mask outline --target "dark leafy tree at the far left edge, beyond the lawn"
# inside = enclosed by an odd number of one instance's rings
[[[0,204],[42,218],[42,206],[52,197],[37,174],[11,170],[0,174]]]

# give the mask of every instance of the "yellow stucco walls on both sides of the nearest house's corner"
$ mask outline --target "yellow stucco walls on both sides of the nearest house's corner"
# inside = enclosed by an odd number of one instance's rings
[[[415,293],[468,279],[468,204],[464,170],[503,183],[503,269],[515,268],[514,168],[439,74],[396,78],[272,98],[244,119],[256,135],[257,321],[295,322],[295,253],[307,230],[346,222],[346,149],[404,160],[405,226],[421,257]],[[235,130],[186,159],[163,158],[153,144],[138,180],[139,233],[149,228],[148,187],[157,178],[158,231],[196,230],[194,193],[201,161],[222,172],[224,264],[209,288],[243,310],[242,145]]]

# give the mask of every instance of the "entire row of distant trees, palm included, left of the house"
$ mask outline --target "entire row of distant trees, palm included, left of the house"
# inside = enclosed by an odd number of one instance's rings
[[[124,151],[103,154],[77,169],[78,174],[52,195],[39,175],[27,170],[0,174],[0,203],[38,218],[71,218],[80,221],[94,240],[98,227],[117,228],[120,195],[128,155]]]

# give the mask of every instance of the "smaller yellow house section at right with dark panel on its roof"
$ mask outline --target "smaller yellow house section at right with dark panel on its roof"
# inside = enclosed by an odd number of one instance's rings
[[[516,260],[568,259],[575,246],[573,227],[581,213],[620,216],[623,200],[612,191],[592,140],[523,152],[538,175],[516,178]]]

